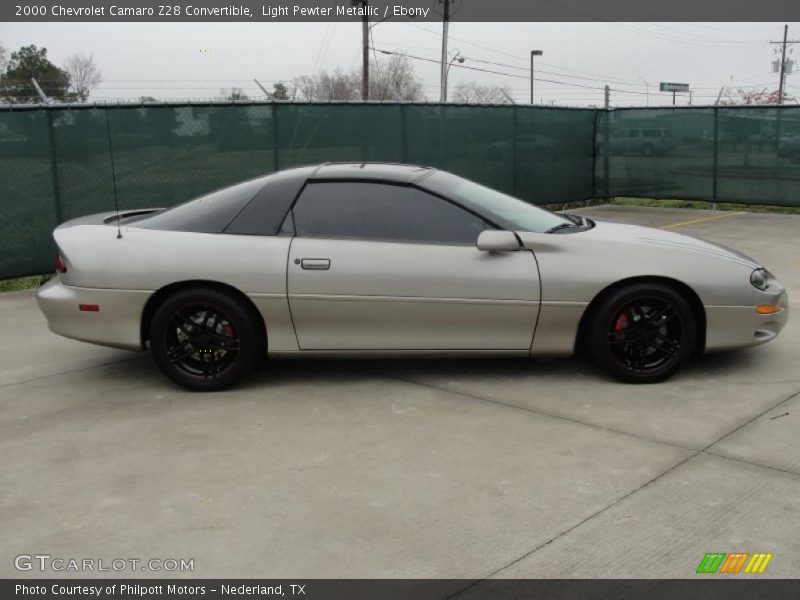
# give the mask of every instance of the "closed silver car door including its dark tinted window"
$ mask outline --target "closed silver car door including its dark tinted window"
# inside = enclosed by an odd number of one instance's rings
[[[302,350],[526,350],[539,310],[529,251],[482,252],[476,215],[411,186],[309,183],[288,218]]]

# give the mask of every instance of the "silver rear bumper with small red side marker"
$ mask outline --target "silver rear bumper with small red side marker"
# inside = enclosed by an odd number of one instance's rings
[[[151,295],[143,290],[74,287],[56,278],[39,289],[36,301],[54,333],[102,346],[142,350],[142,314]],[[100,310],[83,312],[78,309],[80,304],[96,304]]]

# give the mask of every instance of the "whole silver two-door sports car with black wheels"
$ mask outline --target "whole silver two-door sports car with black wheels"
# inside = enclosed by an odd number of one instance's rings
[[[555,214],[444,171],[324,164],[54,233],[50,329],[144,350],[193,390],[264,355],[564,356],[655,382],[788,318],[761,265],[676,233]]]

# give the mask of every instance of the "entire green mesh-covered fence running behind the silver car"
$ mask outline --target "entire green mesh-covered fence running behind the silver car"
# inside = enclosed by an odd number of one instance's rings
[[[536,204],[644,196],[800,205],[800,108],[438,104],[0,108],[0,277],[52,268],[51,231],[325,161],[432,165]],[[113,162],[113,171],[112,171]],[[113,176],[112,176],[113,175]]]

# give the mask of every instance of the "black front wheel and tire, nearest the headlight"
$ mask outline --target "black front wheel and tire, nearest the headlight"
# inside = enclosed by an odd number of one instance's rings
[[[589,328],[595,362],[631,383],[655,383],[694,352],[697,326],[686,299],[657,283],[634,284],[605,299]]]

